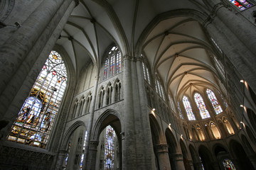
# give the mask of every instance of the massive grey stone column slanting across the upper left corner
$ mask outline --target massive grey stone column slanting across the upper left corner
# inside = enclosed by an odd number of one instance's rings
[[[74,7],[75,2],[72,0],[42,1],[26,21],[21,23],[22,26],[9,35],[9,39],[1,45],[0,94],[4,103],[1,104],[0,116],[6,112],[42,51],[49,55],[63,30],[64,24],[61,25],[60,22],[63,22],[65,17],[66,23]],[[53,41],[50,42],[51,40]],[[50,49],[45,50],[46,44]],[[41,71],[48,55],[44,56],[45,60],[40,64],[37,73]]]

